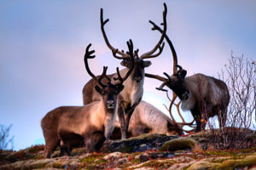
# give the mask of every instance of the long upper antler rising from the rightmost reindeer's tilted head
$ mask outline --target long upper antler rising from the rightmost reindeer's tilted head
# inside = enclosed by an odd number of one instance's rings
[[[152,28],[153,31],[157,30],[157,31],[160,31],[160,33],[163,32],[163,30],[159,26],[157,26],[153,21],[150,20],[149,22],[150,22],[150,24],[153,25],[153,28]],[[177,65],[177,54],[176,54],[175,48],[173,47],[172,41],[169,39],[169,37],[167,35],[165,35],[165,38],[166,38],[166,41],[168,42],[168,44],[169,44],[169,46],[172,50],[173,74],[177,75],[177,67],[176,67],[176,65]]]

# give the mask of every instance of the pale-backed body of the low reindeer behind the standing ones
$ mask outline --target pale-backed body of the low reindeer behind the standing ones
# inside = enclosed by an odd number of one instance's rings
[[[168,136],[182,135],[183,129],[174,124],[166,114],[153,105],[141,101],[131,116],[127,136],[135,137],[143,133],[160,133]],[[115,122],[113,134],[110,138],[119,139],[119,135],[119,123]]]

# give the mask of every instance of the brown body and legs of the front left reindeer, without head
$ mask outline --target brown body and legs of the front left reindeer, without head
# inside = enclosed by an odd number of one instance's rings
[[[88,152],[94,151],[95,147],[99,150],[113,132],[116,115],[117,107],[108,111],[102,101],[84,106],[61,106],[49,111],[41,121],[45,139],[44,157],[49,157],[58,145],[61,146],[61,155],[78,145],[85,145]]]

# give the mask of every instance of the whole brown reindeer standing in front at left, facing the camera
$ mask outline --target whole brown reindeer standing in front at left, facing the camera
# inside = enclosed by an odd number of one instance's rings
[[[127,42],[132,53],[132,42],[130,43]],[[84,54],[84,64],[90,77],[98,83],[99,86],[96,85],[95,89],[102,98],[84,106],[61,106],[44,116],[41,121],[45,139],[44,158],[50,157],[58,145],[61,147],[61,156],[70,155],[72,147],[75,146],[85,145],[87,152],[99,150],[104,140],[113,132],[118,111],[118,95],[124,88],[123,82],[131,74],[134,60],[131,59],[131,68],[125,77],[120,76],[117,68],[119,82],[112,83],[106,76],[108,67],[103,67],[100,77],[90,71],[88,59],[95,58],[95,55],[91,55],[95,51],[89,51],[90,45]],[[102,82],[104,77],[108,79],[106,84]]]

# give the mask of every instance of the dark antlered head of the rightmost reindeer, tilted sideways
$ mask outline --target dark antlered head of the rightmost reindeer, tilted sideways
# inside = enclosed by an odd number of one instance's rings
[[[150,21],[150,23],[153,25],[152,30],[157,30],[157,31],[163,32],[159,26],[154,24],[154,22]],[[189,87],[188,87],[187,83],[185,82],[185,77],[187,75],[187,71],[183,70],[182,66],[177,65],[177,54],[176,54],[175,48],[173,47],[172,42],[169,39],[169,37],[167,35],[165,35],[165,37],[166,37],[166,41],[168,42],[168,44],[172,50],[172,56],[173,56],[173,74],[172,74],[172,76],[170,77],[166,72],[164,72],[164,75],[167,78],[160,77],[157,75],[148,74],[148,73],[146,73],[145,76],[155,78],[155,79],[158,79],[163,82],[160,85],[160,88],[157,88],[157,89],[166,91],[163,88],[165,86],[167,86],[168,88],[171,88],[175,94],[177,94],[179,99],[189,99]],[[177,68],[179,70],[177,70]]]

